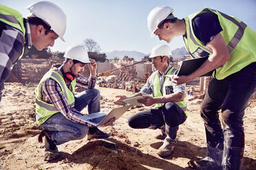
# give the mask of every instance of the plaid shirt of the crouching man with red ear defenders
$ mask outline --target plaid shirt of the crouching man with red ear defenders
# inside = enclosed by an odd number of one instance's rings
[[[61,71],[58,70],[58,73]],[[90,76],[89,78],[78,75],[76,77],[76,83],[81,86],[87,86],[88,88],[94,88],[97,77]],[[67,87],[72,89],[70,82],[66,82]],[[54,104],[54,106],[70,121],[78,122],[87,125],[85,121],[81,121],[78,117],[83,116],[81,112],[72,108],[67,101],[65,95],[61,92],[61,86],[55,81],[49,78],[42,84],[41,96],[39,99],[45,101],[48,104]]]

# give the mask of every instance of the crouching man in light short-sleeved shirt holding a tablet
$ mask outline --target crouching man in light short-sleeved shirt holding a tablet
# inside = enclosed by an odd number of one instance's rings
[[[158,149],[157,154],[161,157],[170,156],[177,143],[177,132],[180,124],[184,123],[187,117],[186,112],[186,84],[173,84],[170,77],[174,75],[177,69],[169,64],[171,49],[168,45],[156,45],[151,51],[149,58],[152,58],[152,64],[156,71],[147,79],[147,83],[141,88],[140,93],[132,97],[142,96],[144,99],[138,99],[138,102],[145,106],[156,104],[158,108],[152,108],[138,112],[129,118],[129,126],[136,129],[149,128],[157,129],[164,126],[166,137],[164,143]],[[153,97],[149,96],[150,94]],[[115,104],[125,104],[120,97]]]

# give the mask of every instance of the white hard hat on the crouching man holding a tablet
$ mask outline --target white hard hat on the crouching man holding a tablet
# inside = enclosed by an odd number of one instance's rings
[[[172,56],[170,47],[168,45],[155,45],[149,58],[154,58],[157,56]]]

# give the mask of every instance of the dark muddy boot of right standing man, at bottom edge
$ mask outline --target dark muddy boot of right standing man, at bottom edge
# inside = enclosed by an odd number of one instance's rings
[[[188,165],[191,169],[200,169],[200,170],[221,170],[221,165],[217,165],[217,163],[210,158],[209,156],[206,156],[205,158],[201,160],[190,160],[188,162]]]

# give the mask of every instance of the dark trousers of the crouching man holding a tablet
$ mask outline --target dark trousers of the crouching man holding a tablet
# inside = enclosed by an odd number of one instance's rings
[[[136,129],[147,127],[156,128],[167,124],[169,127],[177,127],[186,121],[186,115],[177,104],[167,102],[161,108],[149,109],[138,112],[129,118],[129,126]],[[155,129],[156,129],[155,128]]]

